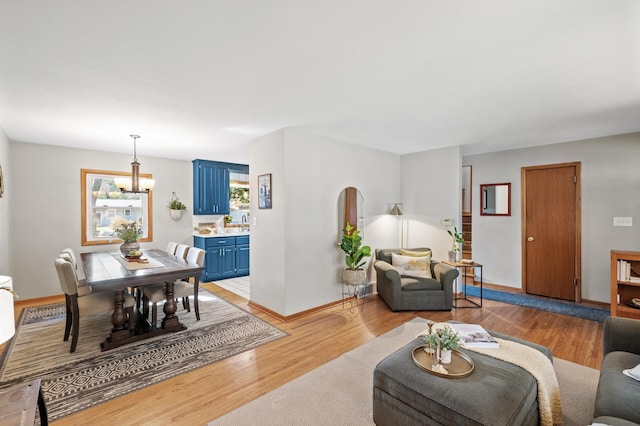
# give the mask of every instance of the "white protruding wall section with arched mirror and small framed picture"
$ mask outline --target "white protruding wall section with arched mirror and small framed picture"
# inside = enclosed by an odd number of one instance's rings
[[[364,197],[365,244],[397,239],[386,213],[398,198],[397,155],[284,129],[250,145],[251,182],[272,173],[273,209],[257,209],[252,192],[251,300],[292,315],[339,300],[343,253],[337,246],[340,192]],[[395,246],[395,245],[394,245]]]

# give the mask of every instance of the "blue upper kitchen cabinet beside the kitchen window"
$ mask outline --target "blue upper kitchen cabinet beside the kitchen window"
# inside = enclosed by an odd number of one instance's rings
[[[229,214],[229,164],[193,160],[193,213]]]

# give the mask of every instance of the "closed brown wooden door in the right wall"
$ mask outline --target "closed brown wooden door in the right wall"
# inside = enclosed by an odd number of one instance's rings
[[[525,293],[580,301],[580,163],[522,168]]]

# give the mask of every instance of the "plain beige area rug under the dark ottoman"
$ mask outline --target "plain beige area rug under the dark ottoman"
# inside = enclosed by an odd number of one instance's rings
[[[373,425],[373,369],[425,329],[413,319],[208,425]],[[590,424],[598,370],[557,358],[554,368],[565,426]]]

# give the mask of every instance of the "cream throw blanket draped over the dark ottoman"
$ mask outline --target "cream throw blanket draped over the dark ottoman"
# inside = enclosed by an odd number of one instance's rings
[[[433,330],[446,323],[434,324]],[[420,335],[428,334],[425,330]],[[538,384],[538,410],[540,424],[543,426],[562,425],[562,401],[556,372],[551,360],[545,354],[531,346],[511,340],[495,338],[499,348],[465,348],[502,361],[509,362],[527,370]]]

